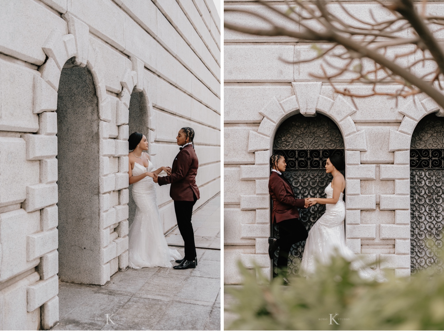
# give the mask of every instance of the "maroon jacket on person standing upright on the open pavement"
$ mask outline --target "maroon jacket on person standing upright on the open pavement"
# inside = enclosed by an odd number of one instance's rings
[[[186,145],[174,158],[170,176],[158,177],[159,185],[171,184],[170,197],[176,201],[194,201],[193,192],[199,199],[196,185],[199,161],[193,146]]]

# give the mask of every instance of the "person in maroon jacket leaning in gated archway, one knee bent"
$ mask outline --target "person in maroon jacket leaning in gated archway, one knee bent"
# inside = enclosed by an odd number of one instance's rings
[[[279,247],[279,256],[277,258],[278,272],[287,274],[288,255],[293,244],[307,239],[308,232],[299,219],[297,207],[308,207],[308,199],[295,199],[293,188],[282,175],[287,164],[285,157],[280,154],[274,154],[270,158],[271,174],[268,181],[268,190],[273,201],[271,219],[277,223],[279,229],[279,239],[270,237],[269,254],[273,259],[274,251]]]

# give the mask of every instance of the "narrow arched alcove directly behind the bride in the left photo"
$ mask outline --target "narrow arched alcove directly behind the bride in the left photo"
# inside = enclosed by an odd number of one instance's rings
[[[130,99],[130,107],[129,107],[129,119],[128,119],[128,127],[129,127],[129,134],[133,132],[140,132],[143,133],[147,139],[148,138],[148,106],[147,106],[147,100],[145,99],[145,95],[143,92],[135,92],[133,91],[131,94]],[[148,153],[150,151],[148,150]],[[132,185],[128,187],[129,193],[130,193],[130,199],[128,202],[128,222],[129,225],[134,220],[134,215],[136,212],[136,205],[134,202],[134,199],[132,197]]]

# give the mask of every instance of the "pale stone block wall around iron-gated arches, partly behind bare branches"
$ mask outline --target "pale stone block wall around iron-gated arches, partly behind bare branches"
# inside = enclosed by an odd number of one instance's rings
[[[225,2],[225,7],[250,9],[268,16],[263,6],[248,1]],[[274,5],[286,8],[283,1]],[[350,11],[368,10],[361,2]],[[444,12],[442,4],[433,10]],[[377,8],[373,8],[377,15]],[[227,12],[225,20],[254,24]],[[418,121],[429,113],[444,116],[431,99],[413,101],[385,96],[351,100],[333,93],[327,82],[315,81],[319,62],[286,64],[316,56],[311,43],[288,37],[250,36],[224,31],[224,281],[242,281],[236,262],[253,262],[271,276],[267,238],[270,235],[269,158],[279,125],[290,116],[324,114],[345,141],[346,242],[369,263],[381,258],[377,270],[410,275],[409,149]],[[319,43],[320,46],[328,43]],[[424,69],[422,69],[424,70]],[[338,87],[365,94],[365,85]],[[387,84],[388,91],[396,89]]]

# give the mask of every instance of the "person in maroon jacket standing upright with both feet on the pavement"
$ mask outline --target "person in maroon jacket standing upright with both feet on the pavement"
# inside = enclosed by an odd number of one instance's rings
[[[174,266],[174,269],[189,269],[197,266],[191,215],[194,204],[199,199],[199,188],[196,185],[199,161],[194,151],[194,130],[192,128],[181,128],[176,139],[177,144],[182,147],[174,158],[171,175],[157,177],[153,180],[159,185],[171,184],[170,197],[174,200],[177,226],[185,246],[185,256],[181,260],[176,260],[179,264]]]

